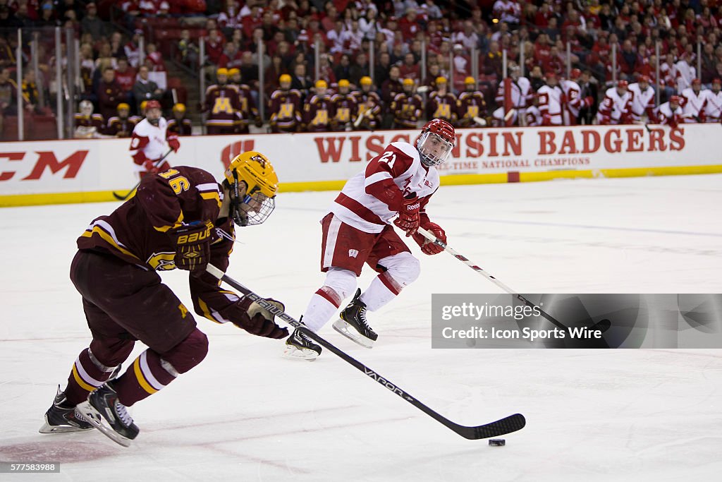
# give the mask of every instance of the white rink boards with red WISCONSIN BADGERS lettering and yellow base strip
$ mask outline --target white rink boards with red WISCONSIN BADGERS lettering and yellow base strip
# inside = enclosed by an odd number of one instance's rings
[[[419,131],[325,132],[182,137],[171,165],[195,165],[221,178],[246,150],[274,163],[281,191],[340,189],[390,142]],[[722,172],[720,124],[458,129],[442,184],[547,181]],[[0,206],[100,202],[138,181],[130,139],[3,142]]]

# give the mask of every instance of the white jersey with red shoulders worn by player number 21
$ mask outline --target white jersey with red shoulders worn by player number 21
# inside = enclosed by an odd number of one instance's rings
[[[389,205],[393,205],[394,199],[403,201],[407,194],[416,193],[423,212],[422,198],[429,197],[438,187],[438,171],[422,165],[416,147],[408,142],[392,142],[347,181],[331,212],[360,231],[380,233],[399,213]]]

